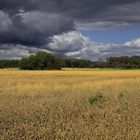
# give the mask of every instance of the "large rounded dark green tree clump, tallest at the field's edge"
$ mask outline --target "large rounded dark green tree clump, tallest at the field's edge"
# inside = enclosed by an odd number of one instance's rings
[[[20,61],[20,69],[24,70],[60,70],[62,67],[63,59],[46,52],[38,52]]]

